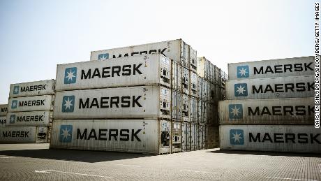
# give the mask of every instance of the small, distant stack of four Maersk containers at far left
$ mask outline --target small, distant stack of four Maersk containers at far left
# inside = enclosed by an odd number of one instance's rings
[[[10,85],[1,143],[49,143],[54,84],[54,80],[42,80]]]

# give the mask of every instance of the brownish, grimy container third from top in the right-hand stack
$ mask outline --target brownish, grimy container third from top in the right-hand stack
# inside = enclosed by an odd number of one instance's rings
[[[314,124],[314,98],[220,101],[220,124]]]

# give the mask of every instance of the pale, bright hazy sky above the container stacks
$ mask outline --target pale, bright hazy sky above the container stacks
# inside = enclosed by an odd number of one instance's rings
[[[10,84],[56,78],[90,52],[182,38],[227,64],[313,55],[314,2],[1,0],[0,104]]]

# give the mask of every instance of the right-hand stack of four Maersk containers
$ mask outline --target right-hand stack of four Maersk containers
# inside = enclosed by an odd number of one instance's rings
[[[221,149],[320,153],[313,67],[314,57],[229,64]]]

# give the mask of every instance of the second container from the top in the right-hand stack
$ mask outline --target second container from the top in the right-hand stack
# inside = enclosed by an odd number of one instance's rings
[[[314,96],[314,76],[229,80],[227,99],[280,99]]]

